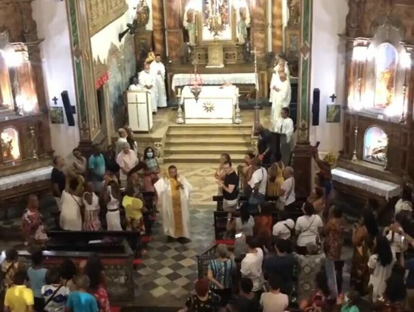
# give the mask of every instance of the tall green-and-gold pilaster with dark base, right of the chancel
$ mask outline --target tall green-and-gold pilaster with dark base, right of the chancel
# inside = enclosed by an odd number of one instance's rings
[[[299,87],[297,107],[298,140],[293,151],[293,168],[298,197],[311,192],[311,145],[309,142],[309,112],[311,95],[312,3],[300,0]],[[299,183],[300,181],[300,183]]]

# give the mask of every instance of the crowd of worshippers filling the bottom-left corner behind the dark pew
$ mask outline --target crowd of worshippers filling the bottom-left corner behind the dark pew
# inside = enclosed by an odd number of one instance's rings
[[[66,258],[46,269],[40,248],[31,263],[19,261],[17,250],[6,251],[1,264],[0,302],[4,312],[109,312],[104,265],[92,255],[79,263]],[[3,300],[4,299],[4,300]]]

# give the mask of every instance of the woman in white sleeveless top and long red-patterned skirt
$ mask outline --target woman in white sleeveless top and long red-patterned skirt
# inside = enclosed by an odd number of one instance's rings
[[[85,193],[83,196],[85,204],[84,225],[85,231],[98,231],[102,229],[101,220],[99,219],[99,198],[93,191],[93,184],[85,184]]]

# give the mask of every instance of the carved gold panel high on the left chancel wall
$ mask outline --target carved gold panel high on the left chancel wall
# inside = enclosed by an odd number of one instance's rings
[[[142,0],[141,0],[142,1]],[[121,17],[128,9],[125,0],[86,0],[89,32],[92,37]]]

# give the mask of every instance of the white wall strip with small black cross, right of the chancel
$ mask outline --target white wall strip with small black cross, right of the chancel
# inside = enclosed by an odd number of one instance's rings
[[[321,142],[321,152],[337,154],[342,150],[341,123],[326,123],[329,96],[337,95],[336,104],[345,104],[345,43],[338,34],[345,31],[347,0],[314,0],[312,24],[311,102],[313,89],[321,91],[319,126],[311,127],[311,144]],[[343,115],[343,111],[342,111]],[[342,116],[343,117],[343,116]],[[312,117],[311,117],[312,120]]]

